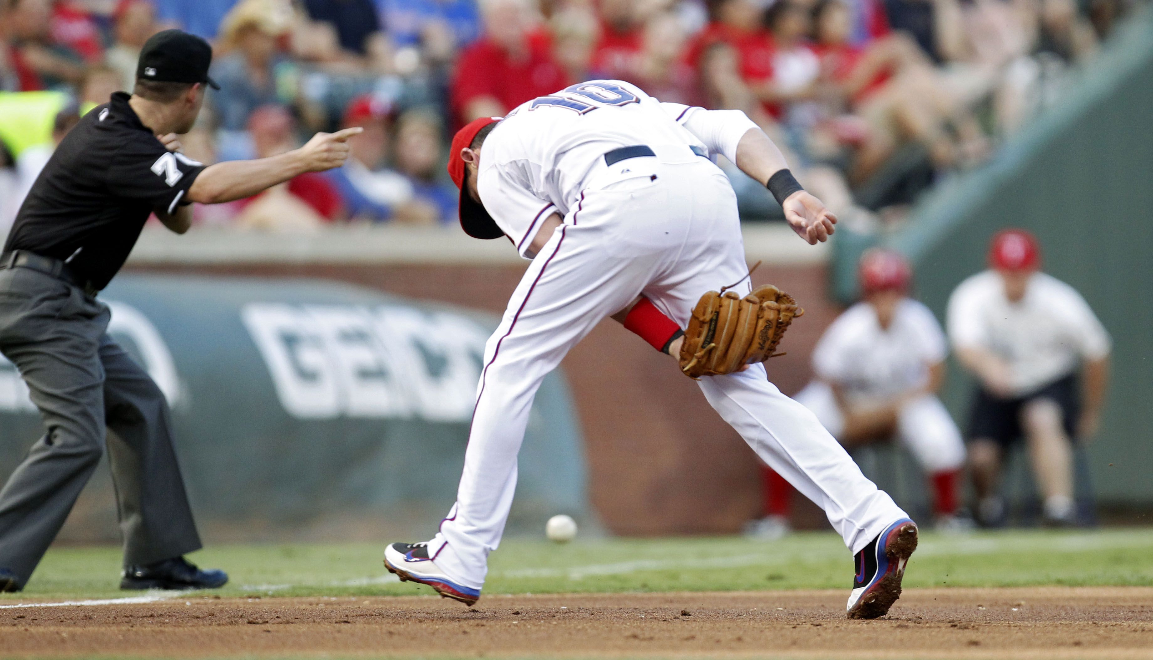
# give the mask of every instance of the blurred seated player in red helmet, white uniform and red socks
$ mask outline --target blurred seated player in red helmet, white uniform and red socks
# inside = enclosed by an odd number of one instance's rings
[[[948,355],[944,332],[928,308],[909,297],[912,270],[899,252],[865,252],[859,280],[864,299],[824,331],[813,350],[816,378],[794,399],[846,448],[904,445],[928,476],[937,526],[963,529],[957,480],[965,446],[936,396]],[[782,493],[779,480],[768,477],[769,516],[748,531],[771,538],[787,531],[783,516],[791,492]]]

